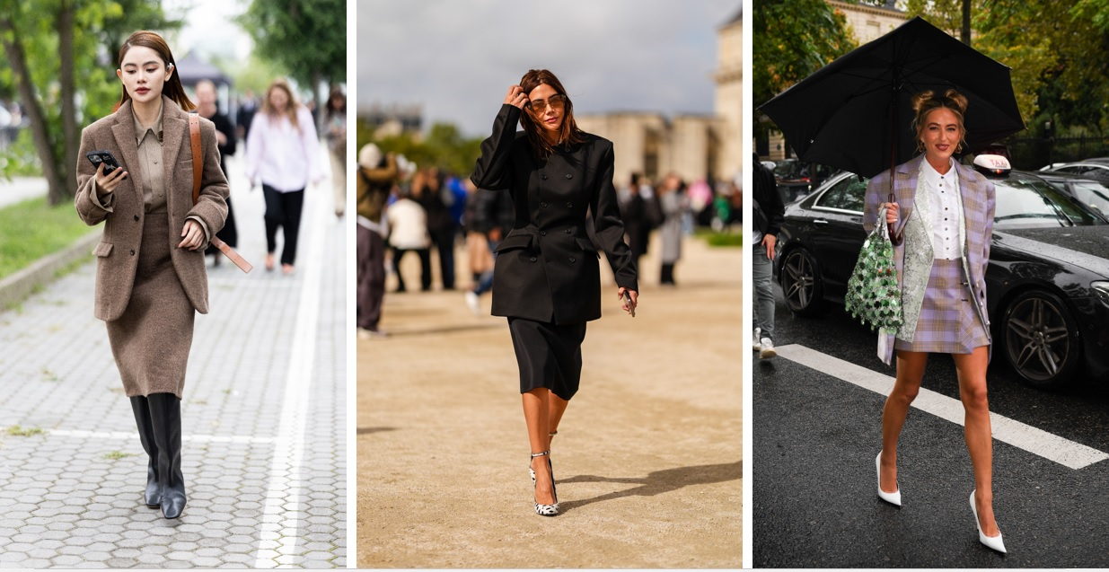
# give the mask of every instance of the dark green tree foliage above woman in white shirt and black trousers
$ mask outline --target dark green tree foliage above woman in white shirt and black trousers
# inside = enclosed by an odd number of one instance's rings
[[[254,52],[312,85],[346,82],[345,0],[252,0],[236,21],[254,40]]]

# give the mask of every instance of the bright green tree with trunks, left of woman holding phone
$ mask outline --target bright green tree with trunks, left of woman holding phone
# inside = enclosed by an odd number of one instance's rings
[[[51,204],[73,196],[80,127],[120,96],[115,54],[134,30],[180,25],[155,0],[0,0],[0,91],[18,93]],[[20,141],[26,141],[21,137]],[[22,168],[13,149],[3,172]]]

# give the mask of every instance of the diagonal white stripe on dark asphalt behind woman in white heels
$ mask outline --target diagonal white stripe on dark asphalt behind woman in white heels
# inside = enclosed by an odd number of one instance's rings
[[[796,344],[779,347],[777,355],[883,396],[889,395],[894,387],[893,377]],[[920,388],[913,407],[953,423],[963,425],[963,402],[958,399]],[[1109,459],[1109,454],[1102,451],[994,412],[989,413],[989,420],[994,439],[1070,469],[1081,469]]]

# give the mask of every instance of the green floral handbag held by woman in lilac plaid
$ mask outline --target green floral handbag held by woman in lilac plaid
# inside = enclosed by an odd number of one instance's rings
[[[844,300],[847,313],[869,324],[871,329],[897,331],[902,326],[901,289],[894,265],[894,245],[884,224],[886,210],[878,212],[874,231],[858,252],[858,262],[847,280]]]

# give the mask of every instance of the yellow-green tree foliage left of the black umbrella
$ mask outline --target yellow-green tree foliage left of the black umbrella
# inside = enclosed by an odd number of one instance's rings
[[[845,18],[824,0],[760,0],[753,13],[756,108],[855,48]],[[764,122],[755,125],[765,133]]]

